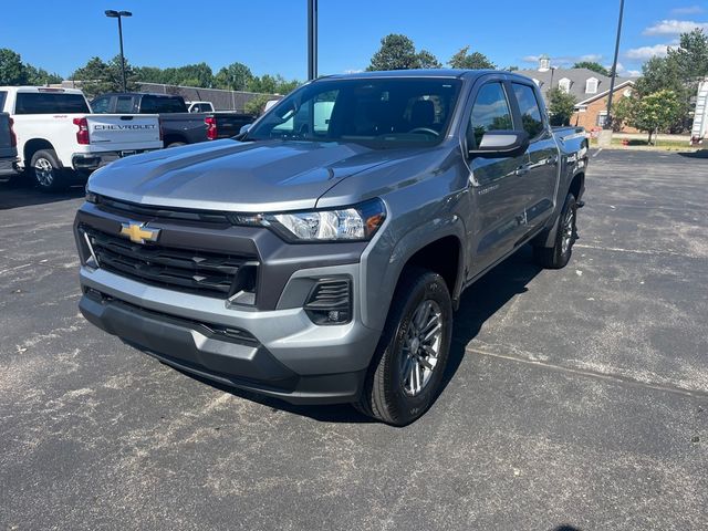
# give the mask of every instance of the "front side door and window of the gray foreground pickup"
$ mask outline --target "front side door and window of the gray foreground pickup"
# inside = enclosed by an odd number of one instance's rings
[[[483,134],[490,131],[512,131],[512,116],[511,97],[503,81],[483,83],[473,96],[468,114],[467,145],[479,145]],[[473,230],[469,239],[470,277],[509,253],[519,238],[519,216],[523,212],[519,174],[525,165],[524,154],[468,159],[472,192],[472,219],[468,227]]]

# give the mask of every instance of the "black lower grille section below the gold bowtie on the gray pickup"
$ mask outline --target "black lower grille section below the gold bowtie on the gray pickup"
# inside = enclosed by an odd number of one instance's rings
[[[258,263],[248,257],[195,249],[133,243],[118,236],[81,227],[88,236],[98,267],[147,284],[227,299],[256,288]]]

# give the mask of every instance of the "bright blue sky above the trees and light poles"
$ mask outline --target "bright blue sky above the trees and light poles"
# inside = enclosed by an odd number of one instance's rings
[[[546,53],[556,65],[581,59],[612,62],[618,0],[320,0],[320,73],[366,67],[387,33],[447,61],[461,46],[500,66],[532,67]],[[572,7],[574,6],[574,7]],[[305,0],[25,0],[7,2],[0,48],[25,62],[69,75],[91,56],[117,54],[117,29],[106,9],[133,11],[124,24],[132,64],[233,61],[256,74],[306,76]],[[625,75],[666,52],[681,30],[708,29],[708,1],[626,0],[620,62]]]

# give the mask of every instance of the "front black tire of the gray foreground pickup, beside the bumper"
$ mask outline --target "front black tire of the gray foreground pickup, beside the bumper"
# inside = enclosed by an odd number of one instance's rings
[[[440,334],[433,343],[433,347],[436,343],[439,345],[434,368],[425,379],[427,373],[421,365],[424,362],[415,362],[412,356],[406,354],[406,348],[410,348],[414,344],[420,344],[420,348],[425,348],[423,346],[425,342],[413,343],[415,340],[412,340],[410,335],[420,331],[420,326],[414,322],[414,316],[419,315],[416,312],[428,303],[430,311],[439,311],[439,319],[433,329],[439,324]],[[427,320],[427,315],[430,315],[430,321],[427,324],[434,323],[434,315],[429,312],[426,313],[424,322]],[[421,331],[420,335],[423,335]],[[372,360],[362,396],[360,402],[354,404],[354,407],[364,415],[392,426],[406,426],[419,418],[433,405],[440,391],[451,336],[452,303],[442,277],[418,268],[404,271]],[[427,355],[423,350],[417,350],[417,352]],[[433,358],[428,356],[425,363],[430,364],[431,361]],[[418,365],[417,383],[421,383],[421,377],[425,381],[417,393],[408,388],[415,387],[413,379],[413,374],[416,372],[415,365]],[[408,379],[406,367],[410,368]]]

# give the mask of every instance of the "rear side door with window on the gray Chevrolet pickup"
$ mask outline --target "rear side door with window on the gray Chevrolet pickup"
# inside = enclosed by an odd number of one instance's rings
[[[558,183],[558,145],[534,86],[513,81],[511,87],[521,125],[531,140],[527,168],[520,175],[524,208],[522,222],[527,226],[525,232],[531,232],[543,225],[553,210]]]

